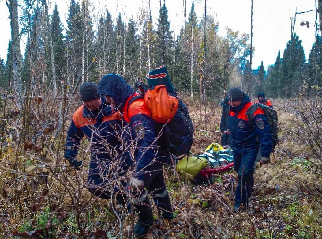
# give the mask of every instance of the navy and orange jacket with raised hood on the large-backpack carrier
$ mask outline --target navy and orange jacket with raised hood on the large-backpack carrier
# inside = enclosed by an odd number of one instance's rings
[[[130,105],[130,99],[137,95],[119,75],[108,74],[99,82],[101,94],[109,95],[122,112],[131,131],[131,141],[136,143],[134,159],[136,177],[144,180],[153,171],[153,160],[165,161],[165,156],[157,140],[156,124],[151,118],[151,111],[143,98],[136,99]]]

